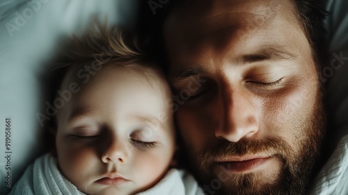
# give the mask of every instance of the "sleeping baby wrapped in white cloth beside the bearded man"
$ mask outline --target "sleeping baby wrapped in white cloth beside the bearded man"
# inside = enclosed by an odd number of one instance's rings
[[[171,168],[170,88],[125,36],[100,30],[75,39],[52,102],[55,153],[35,159],[10,194],[204,194]]]

